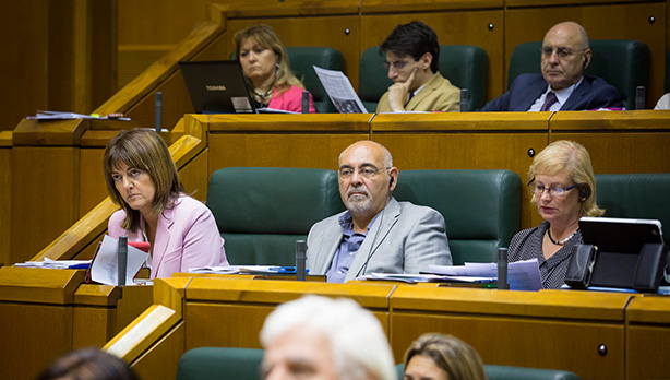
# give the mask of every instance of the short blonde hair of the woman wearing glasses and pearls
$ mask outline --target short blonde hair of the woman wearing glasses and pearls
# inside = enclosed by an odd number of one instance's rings
[[[577,186],[579,201],[584,202],[581,216],[600,216],[605,213],[605,210],[596,204],[596,178],[588,151],[584,146],[569,140],[559,140],[547,145],[533,158],[528,169],[528,183],[537,174],[553,176],[559,173],[567,173]],[[586,191],[588,194],[582,197]],[[535,205],[535,193],[530,202]]]

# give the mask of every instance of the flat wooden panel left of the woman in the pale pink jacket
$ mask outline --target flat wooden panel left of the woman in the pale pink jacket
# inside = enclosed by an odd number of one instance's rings
[[[12,154],[10,262],[15,263],[34,257],[76,221],[79,152],[15,146]]]

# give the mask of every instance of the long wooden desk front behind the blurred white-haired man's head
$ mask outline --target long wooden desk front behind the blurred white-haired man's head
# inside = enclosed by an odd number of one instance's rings
[[[151,380],[174,377],[179,357],[194,347],[258,348],[267,314],[306,294],[352,298],[371,310],[387,331],[398,363],[420,334],[442,332],[471,344],[484,364],[564,369],[585,380],[636,380],[667,373],[665,351],[656,348],[670,335],[670,298],[213,276],[157,281],[154,307],[171,309],[180,320],[165,319],[160,331],[167,333],[156,333],[151,342],[144,339],[142,344],[148,348],[137,348],[127,359],[143,379]],[[142,323],[136,320],[133,325]],[[149,331],[141,333],[151,336]],[[601,345],[607,348],[603,355]],[[658,371],[639,369],[648,365]]]

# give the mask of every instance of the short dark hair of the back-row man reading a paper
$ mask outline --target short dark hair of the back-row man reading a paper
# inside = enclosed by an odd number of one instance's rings
[[[440,62],[440,44],[438,34],[432,27],[420,21],[396,26],[386,39],[380,45],[380,54],[391,51],[396,56],[411,56],[418,60],[424,54],[430,52],[433,57],[430,70],[438,72]]]

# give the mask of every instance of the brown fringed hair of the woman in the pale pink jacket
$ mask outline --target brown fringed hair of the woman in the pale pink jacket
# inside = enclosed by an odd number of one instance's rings
[[[111,171],[120,164],[146,171],[156,187],[152,212],[160,215],[171,206],[180,193],[186,192],[177,166],[172,162],[170,151],[163,138],[151,129],[133,129],[121,131],[111,139],[103,156],[103,170],[105,182],[111,200],[125,210],[125,219],[121,228],[136,233],[140,228],[140,212],[131,209],[117,190],[111,178]]]

